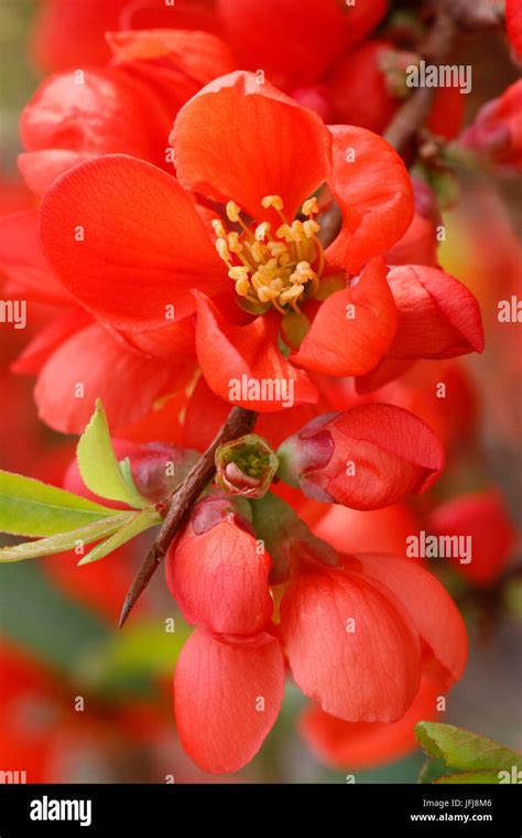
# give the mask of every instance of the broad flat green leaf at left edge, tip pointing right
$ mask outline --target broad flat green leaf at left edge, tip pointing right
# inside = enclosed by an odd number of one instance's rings
[[[15,536],[53,536],[84,527],[115,509],[40,480],[0,471],[0,531]]]

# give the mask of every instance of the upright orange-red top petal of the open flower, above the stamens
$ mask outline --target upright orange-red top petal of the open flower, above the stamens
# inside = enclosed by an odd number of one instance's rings
[[[329,174],[330,142],[319,117],[243,72],[204,87],[171,135],[180,182],[255,219],[267,217],[265,195],[281,195],[294,217]]]

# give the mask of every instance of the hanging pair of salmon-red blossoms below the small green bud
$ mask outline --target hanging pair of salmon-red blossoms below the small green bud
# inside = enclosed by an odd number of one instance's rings
[[[254,536],[261,520],[254,513],[252,529],[210,495],[167,558],[171,591],[197,625],[174,678],[180,735],[214,773],[246,764],[272,728],[283,653],[302,691],[352,723],[401,719],[421,677],[444,692],[466,662],[461,617],[429,572],[391,555],[338,554],[280,501],[268,512],[270,559]]]

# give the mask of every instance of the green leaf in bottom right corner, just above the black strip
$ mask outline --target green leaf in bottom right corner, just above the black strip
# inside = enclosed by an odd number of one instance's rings
[[[454,724],[421,721],[415,735],[423,749],[443,759],[450,769],[465,772],[522,769],[522,754]]]

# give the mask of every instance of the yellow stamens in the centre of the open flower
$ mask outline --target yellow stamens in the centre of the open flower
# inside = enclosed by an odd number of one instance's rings
[[[319,211],[317,200],[308,198],[301,212],[306,221],[292,224],[283,213],[279,195],[267,195],[262,206],[272,207],[281,217],[281,226],[272,232],[269,222],[248,226],[241,210],[229,201],[227,217],[241,232],[229,233],[220,218],[213,221],[217,236],[216,249],[228,267],[239,298],[259,305],[271,303],[281,314],[290,308],[298,312],[298,303],[314,294],[325,267],[323,246],[317,238],[320,225],[314,221]]]

